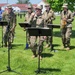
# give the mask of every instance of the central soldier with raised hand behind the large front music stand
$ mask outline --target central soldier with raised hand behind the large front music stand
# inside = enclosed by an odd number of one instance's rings
[[[42,17],[42,10],[41,10],[41,6],[37,6],[36,7],[36,11],[35,14],[32,14],[33,17],[33,23],[32,23],[32,27],[44,27],[44,19]],[[39,44],[39,40],[40,39],[40,44]],[[30,38],[30,46],[33,52],[33,57],[36,57],[38,55],[38,47],[40,46],[40,53],[43,50],[43,37],[36,37],[36,36],[31,36]],[[41,59],[41,56],[40,56]]]

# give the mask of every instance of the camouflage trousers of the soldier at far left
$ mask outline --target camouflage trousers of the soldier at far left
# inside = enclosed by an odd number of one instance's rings
[[[7,26],[3,27],[3,41],[4,44],[7,45],[8,44],[8,40],[10,43],[13,42],[14,40],[14,32],[8,32],[7,31]]]

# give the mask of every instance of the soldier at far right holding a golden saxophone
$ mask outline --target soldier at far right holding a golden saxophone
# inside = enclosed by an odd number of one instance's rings
[[[66,47],[66,50],[70,50],[70,36],[72,34],[72,21],[73,14],[68,9],[68,5],[63,4],[63,10],[61,12],[61,35],[63,48]]]

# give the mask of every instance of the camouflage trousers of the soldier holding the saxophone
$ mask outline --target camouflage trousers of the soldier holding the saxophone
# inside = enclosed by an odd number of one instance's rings
[[[70,37],[72,34],[72,27],[66,27],[61,29],[62,43],[63,46],[70,47]]]

